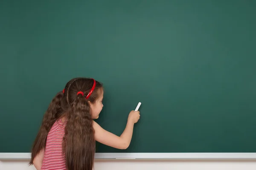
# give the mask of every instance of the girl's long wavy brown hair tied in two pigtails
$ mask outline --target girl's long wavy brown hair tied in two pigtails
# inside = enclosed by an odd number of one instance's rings
[[[102,93],[100,89],[103,89],[102,84],[96,81],[93,93],[85,99],[93,82],[88,78],[71,79],[65,86],[64,93],[61,91],[52,99],[32,147],[30,164],[33,164],[35,156],[45,147],[47,134],[53,123],[65,116],[67,125],[62,149],[66,157],[67,169],[92,170],[95,139],[89,102],[95,102]],[[82,91],[84,96],[77,95],[78,91]]]

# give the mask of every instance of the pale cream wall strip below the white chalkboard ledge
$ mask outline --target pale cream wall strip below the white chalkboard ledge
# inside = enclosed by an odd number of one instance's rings
[[[96,161],[95,170],[256,170],[256,161]],[[0,170],[35,170],[28,161],[0,161]]]

